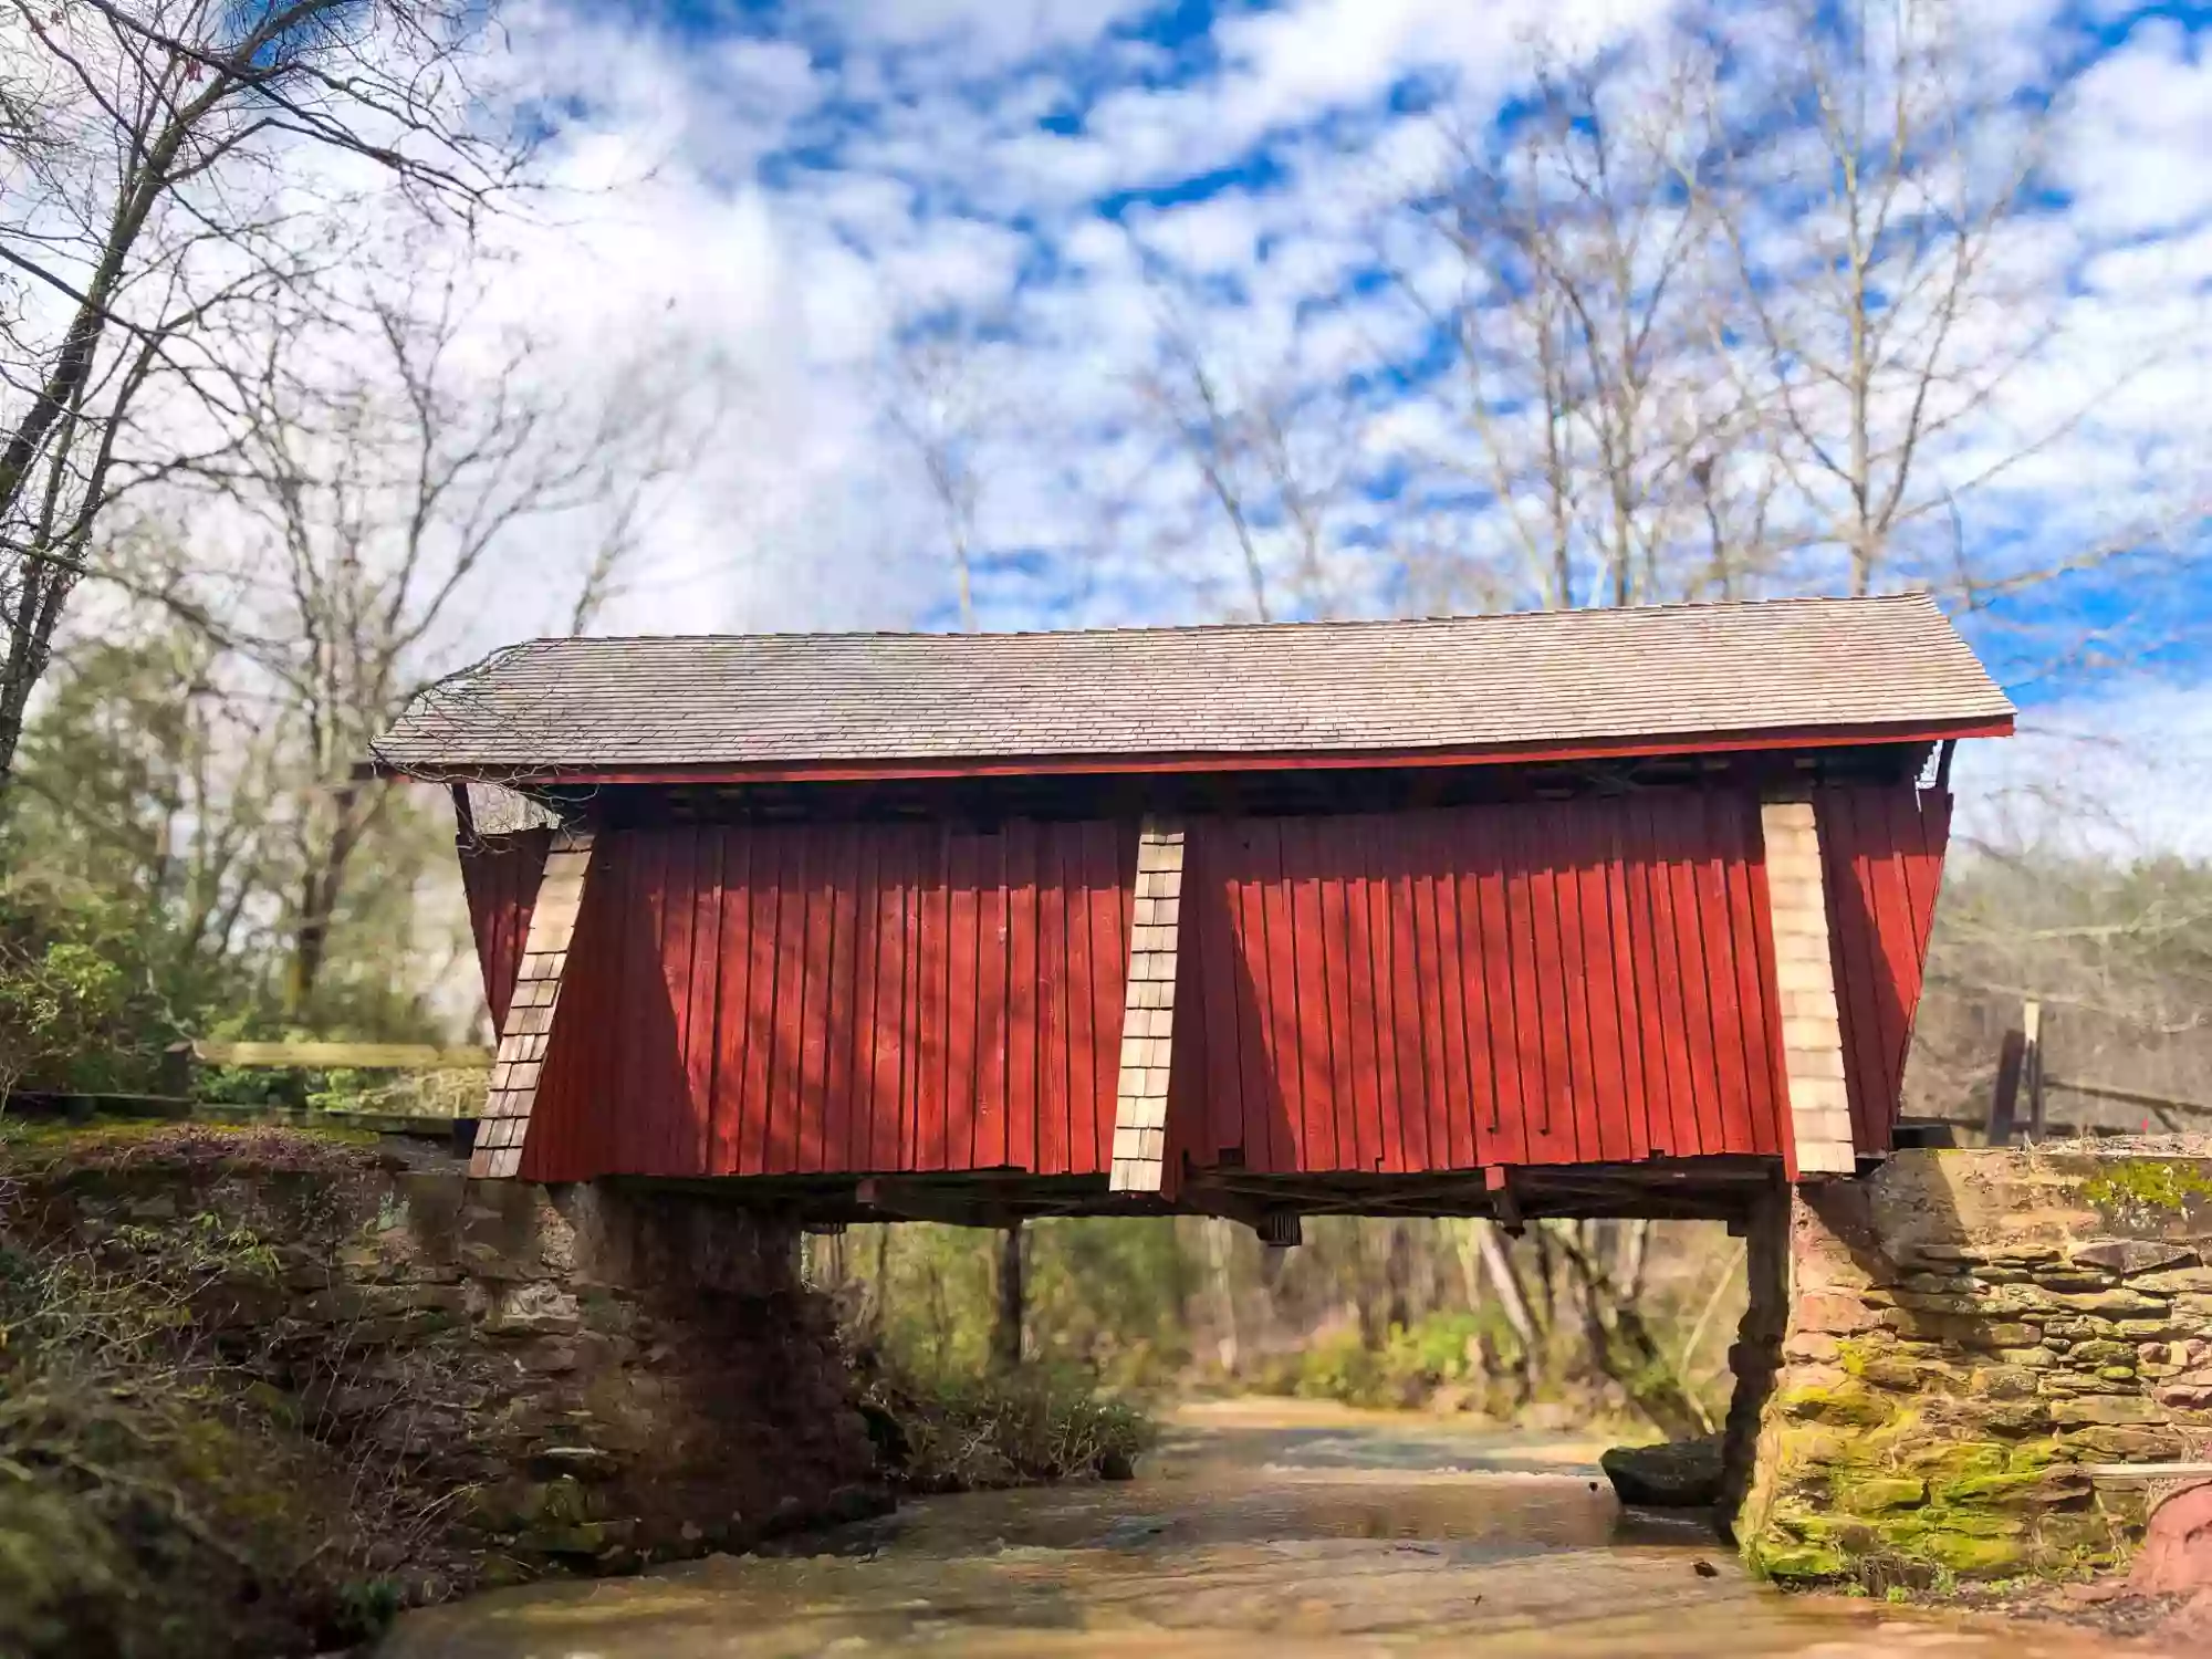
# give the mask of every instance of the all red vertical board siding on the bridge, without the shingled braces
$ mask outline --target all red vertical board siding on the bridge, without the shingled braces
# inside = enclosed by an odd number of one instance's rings
[[[1816,801],[1854,1133],[1878,1150],[1951,803]],[[522,1172],[1104,1172],[1135,834],[602,832]],[[1194,818],[1188,847],[1172,1164],[1783,1150],[1750,796]],[[462,856],[495,1022],[544,849]]]

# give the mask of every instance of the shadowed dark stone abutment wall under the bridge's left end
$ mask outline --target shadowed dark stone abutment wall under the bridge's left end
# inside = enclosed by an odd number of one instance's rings
[[[283,1133],[64,1146],[4,1186],[4,1237],[35,1252],[131,1263],[210,1219],[254,1241],[190,1318],[383,1489],[367,1566],[407,1599],[887,1506],[790,1228]]]

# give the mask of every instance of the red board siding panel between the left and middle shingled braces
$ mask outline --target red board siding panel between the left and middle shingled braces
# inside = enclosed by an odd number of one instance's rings
[[[1102,1172],[1133,867],[1115,823],[604,832],[522,1175]]]

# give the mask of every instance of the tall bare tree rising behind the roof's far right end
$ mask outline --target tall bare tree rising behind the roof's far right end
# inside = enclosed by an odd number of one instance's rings
[[[1763,416],[1794,551],[1840,551],[1849,593],[1944,575],[1927,542],[1958,500],[2088,411],[1947,465],[2046,354],[2062,299],[2022,234],[2046,113],[1978,73],[1971,27],[1949,4],[1794,4],[1783,38],[1721,42],[1756,91],[1710,102],[1708,166],[1683,170],[1732,274],[1714,361]]]

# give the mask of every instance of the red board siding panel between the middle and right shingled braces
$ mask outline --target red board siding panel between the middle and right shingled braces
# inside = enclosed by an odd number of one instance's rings
[[[1644,794],[1192,825],[1197,1164],[1778,1152],[1759,807]],[[1194,1018],[1192,1018],[1194,1015]]]

